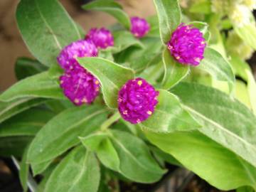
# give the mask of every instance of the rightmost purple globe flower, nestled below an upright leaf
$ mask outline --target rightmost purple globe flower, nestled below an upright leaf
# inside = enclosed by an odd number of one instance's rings
[[[193,25],[186,26],[184,23],[176,28],[171,34],[171,40],[167,44],[171,55],[185,65],[199,65],[203,59],[206,48],[206,40],[203,33]]]

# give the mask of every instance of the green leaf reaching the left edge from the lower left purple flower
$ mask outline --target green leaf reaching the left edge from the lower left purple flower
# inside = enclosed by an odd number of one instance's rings
[[[65,99],[57,80],[51,80],[48,72],[39,73],[16,82],[0,95],[0,101],[9,102],[23,97]]]

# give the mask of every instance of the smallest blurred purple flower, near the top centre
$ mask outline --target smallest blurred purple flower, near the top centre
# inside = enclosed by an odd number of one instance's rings
[[[134,16],[131,18],[131,32],[137,38],[142,38],[146,36],[146,33],[149,32],[150,26],[149,23],[144,18],[139,18]]]

